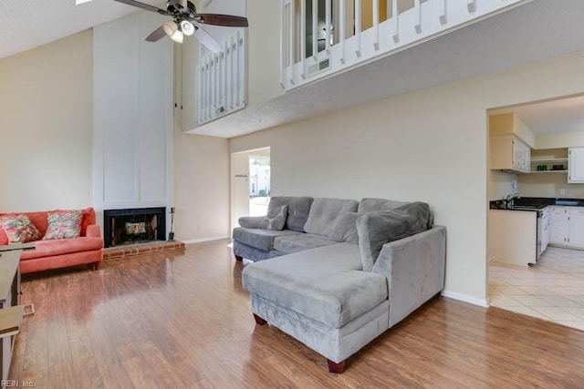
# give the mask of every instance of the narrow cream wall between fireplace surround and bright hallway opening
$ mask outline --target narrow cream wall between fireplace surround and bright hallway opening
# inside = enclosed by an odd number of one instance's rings
[[[229,142],[190,135],[196,125],[194,80],[199,44],[193,37],[175,44],[174,218],[175,239],[209,241],[231,236]]]

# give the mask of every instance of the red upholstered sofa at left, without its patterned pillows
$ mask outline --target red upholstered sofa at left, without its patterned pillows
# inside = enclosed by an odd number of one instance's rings
[[[47,231],[47,215],[49,211],[23,212],[35,225],[42,236]],[[5,213],[0,213],[4,215]],[[8,237],[0,228],[0,244],[7,244]],[[103,239],[99,226],[95,223],[95,210],[83,210],[81,220],[81,236],[74,239],[59,239],[50,241],[35,241],[34,250],[23,251],[20,257],[20,271],[46,271],[66,268],[80,264],[93,264],[94,270],[99,270],[99,263],[103,259]]]

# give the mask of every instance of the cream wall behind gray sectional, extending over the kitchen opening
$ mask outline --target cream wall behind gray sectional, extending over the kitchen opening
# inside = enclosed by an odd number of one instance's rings
[[[448,229],[445,294],[486,300],[486,110],[581,93],[584,55],[233,138],[270,146],[272,194],[423,200]],[[318,167],[318,169],[315,169]]]

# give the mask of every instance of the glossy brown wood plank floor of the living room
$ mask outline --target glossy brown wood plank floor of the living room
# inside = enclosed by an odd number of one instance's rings
[[[255,326],[229,241],[27,276],[10,378],[36,388],[584,387],[584,332],[437,298],[344,374]]]

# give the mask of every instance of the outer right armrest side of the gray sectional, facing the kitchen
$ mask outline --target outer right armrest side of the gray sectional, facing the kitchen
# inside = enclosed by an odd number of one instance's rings
[[[433,226],[383,245],[372,271],[387,277],[389,327],[443,290],[446,228]]]

